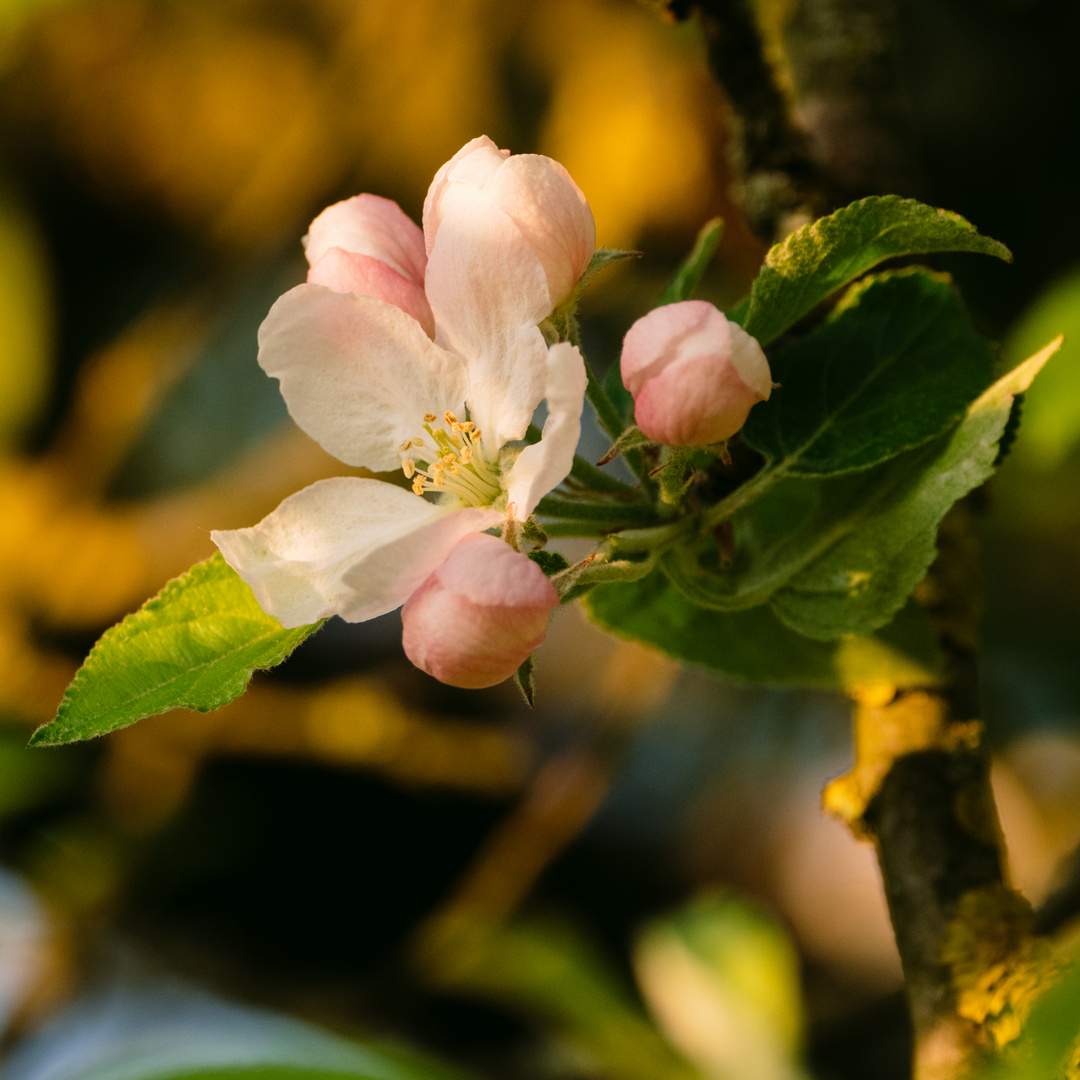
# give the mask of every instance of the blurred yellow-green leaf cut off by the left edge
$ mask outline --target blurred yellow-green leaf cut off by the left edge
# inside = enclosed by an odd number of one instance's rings
[[[0,447],[23,435],[44,404],[51,318],[44,253],[22,208],[0,191]]]

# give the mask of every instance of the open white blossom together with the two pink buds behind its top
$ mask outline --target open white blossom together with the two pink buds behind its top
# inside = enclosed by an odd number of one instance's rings
[[[477,185],[460,171],[474,179],[481,151],[499,167],[488,160]],[[424,216],[421,232],[375,195],[324,211],[306,238],[308,282],[259,329],[259,364],[309,435],[411,481],[319,481],[258,525],[212,534],[285,626],[393,610],[464,536],[525,521],[573,463],[584,363],[538,324],[559,298],[552,282],[584,258],[582,237],[593,242],[580,191],[548,158],[474,139],[440,170]],[[543,399],[542,438],[508,446]]]

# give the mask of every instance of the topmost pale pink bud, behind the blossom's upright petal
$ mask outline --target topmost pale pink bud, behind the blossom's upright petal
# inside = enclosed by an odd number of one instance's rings
[[[551,158],[511,156],[481,136],[463,146],[435,174],[423,204],[428,254],[447,214],[469,213],[481,192],[517,226],[523,242],[539,258],[554,308],[570,295],[596,247],[596,227],[585,197],[570,174]]]

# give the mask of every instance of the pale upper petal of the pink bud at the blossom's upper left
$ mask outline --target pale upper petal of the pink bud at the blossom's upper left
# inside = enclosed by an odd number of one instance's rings
[[[414,285],[423,287],[428,261],[423,233],[392,199],[361,194],[327,206],[303,238],[309,266],[332,247],[386,262]]]

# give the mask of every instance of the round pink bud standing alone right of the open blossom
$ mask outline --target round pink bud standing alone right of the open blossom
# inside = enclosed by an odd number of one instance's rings
[[[622,381],[653,442],[705,446],[730,438],[772,392],[757,341],[704,300],[656,308],[622,343]]]

